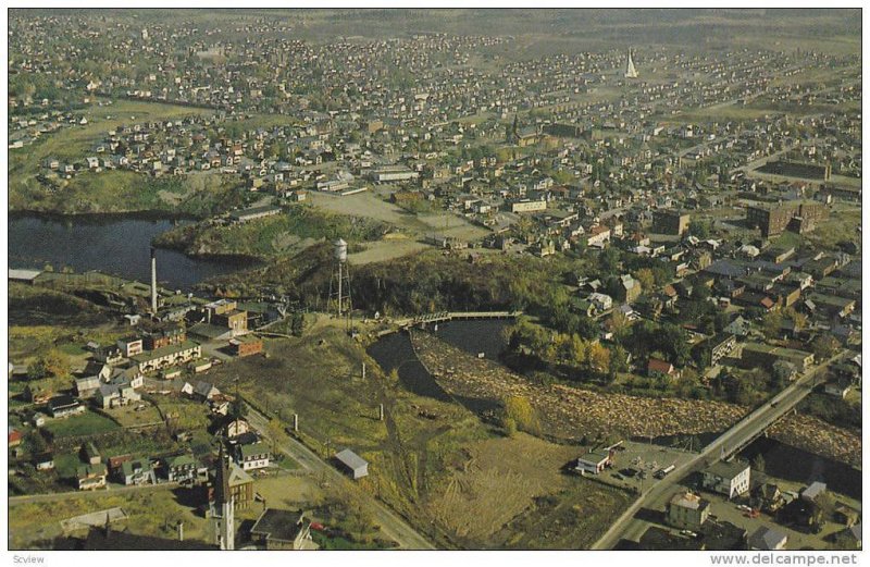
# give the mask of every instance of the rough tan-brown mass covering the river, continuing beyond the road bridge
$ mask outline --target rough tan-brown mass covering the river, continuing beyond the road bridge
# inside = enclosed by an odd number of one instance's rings
[[[731,428],[749,408],[734,404],[600,394],[563,384],[533,384],[504,366],[475,358],[423,332],[411,335],[423,366],[455,397],[480,407],[523,396],[536,410],[543,433],[561,439],[716,434]],[[808,416],[788,416],[770,430],[782,443],[860,467],[861,440],[855,433]]]

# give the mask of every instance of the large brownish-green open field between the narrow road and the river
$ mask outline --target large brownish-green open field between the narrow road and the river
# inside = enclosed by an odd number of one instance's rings
[[[370,476],[359,486],[439,547],[507,546],[517,533],[506,526],[560,491],[600,504],[589,504],[588,523],[574,526],[594,539],[589,530],[629,501],[627,493],[561,472],[576,447],[525,434],[507,439],[459,404],[409,393],[340,330],[314,326],[302,338],[270,340],[265,349],[268,358],[219,367],[210,379],[232,391],[238,375],[246,399],[285,424],[298,414],[300,437],[321,455],[345,447],[360,454]]]

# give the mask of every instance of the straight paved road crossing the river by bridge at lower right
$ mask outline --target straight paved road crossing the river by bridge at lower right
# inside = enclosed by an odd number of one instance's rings
[[[765,405],[744,417],[733,428],[725,431],[704,449],[694,459],[680,465],[673,472],[664,479],[654,484],[647,492],[638,497],[620,516],[601,538],[595,542],[593,550],[610,550],[620,540],[629,539],[637,541],[646,529],[646,522],[635,518],[635,514],[641,508],[661,507],[667,498],[672,494],[673,488],[679,484],[686,476],[700,470],[716,461],[722,452],[731,454],[734,449],[742,447],[748,441],[769,428],[773,422],[788,412],[798,402],[804,399],[812,391],[813,380],[824,371],[829,365],[842,358],[846,352],[842,352],[826,362],[816,367],[806,375],[795,380],[793,384],[776,394]]]

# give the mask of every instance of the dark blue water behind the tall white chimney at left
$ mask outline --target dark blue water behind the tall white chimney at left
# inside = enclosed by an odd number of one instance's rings
[[[10,217],[9,267],[42,269],[49,263],[54,270],[69,266],[76,272],[98,270],[149,282],[151,238],[173,226],[171,220],[129,215]],[[190,258],[174,250],[157,250],[158,280],[172,289],[190,289],[203,280],[243,266],[241,262]]]

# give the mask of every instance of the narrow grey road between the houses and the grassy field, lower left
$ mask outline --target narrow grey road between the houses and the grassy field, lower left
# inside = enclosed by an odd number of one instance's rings
[[[251,426],[254,427],[254,429],[258,429],[261,432],[268,431],[268,418],[257,412],[253,408],[250,408],[248,411],[248,420],[250,421]],[[287,437],[286,442],[278,443],[277,447],[284,454],[289,455],[303,469],[310,472],[325,474],[327,478],[332,478],[337,482],[341,482],[346,479],[346,477],[341,474],[341,472],[339,472],[335,467],[323,460],[320,456],[293,437]],[[381,526],[381,530],[388,538],[395,540],[396,543],[399,544],[399,547],[403,550],[435,548],[425,538],[414,531],[413,528],[408,526],[405,520],[399,518],[399,516],[387,508],[384,504],[376,501],[368,493],[362,491],[359,493],[369,502],[375,520],[377,525]]]

